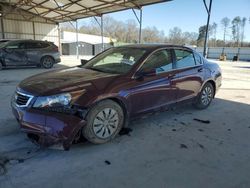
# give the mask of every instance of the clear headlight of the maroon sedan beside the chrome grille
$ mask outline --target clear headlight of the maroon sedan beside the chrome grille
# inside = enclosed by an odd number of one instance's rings
[[[33,107],[43,108],[43,107],[67,106],[70,104],[71,99],[72,99],[72,97],[71,97],[70,93],[63,93],[63,94],[59,94],[59,95],[38,97],[36,99],[36,102],[34,103]]]

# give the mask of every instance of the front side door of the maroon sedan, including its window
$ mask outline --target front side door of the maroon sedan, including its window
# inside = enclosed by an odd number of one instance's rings
[[[128,100],[133,115],[170,104],[176,99],[176,89],[172,87],[172,57],[167,49],[154,52],[144,62],[139,74],[129,88]]]

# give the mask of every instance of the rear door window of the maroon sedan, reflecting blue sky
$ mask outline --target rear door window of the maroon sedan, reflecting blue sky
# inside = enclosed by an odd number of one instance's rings
[[[176,61],[174,63],[175,69],[194,67],[196,65],[192,52],[182,49],[175,49],[174,52],[176,57]]]

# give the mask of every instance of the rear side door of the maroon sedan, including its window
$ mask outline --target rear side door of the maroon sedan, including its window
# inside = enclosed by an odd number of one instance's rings
[[[177,101],[194,98],[203,83],[202,61],[196,59],[189,49],[173,49],[173,56],[175,73],[172,84],[178,90]]]

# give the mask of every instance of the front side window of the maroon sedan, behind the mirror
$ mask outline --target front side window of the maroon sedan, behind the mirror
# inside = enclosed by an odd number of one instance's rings
[[[173,69],[171,53],[169,50],[160,50],[153,53],[142,65],[141,70],[147,72],[155,70],[156,74]]]

